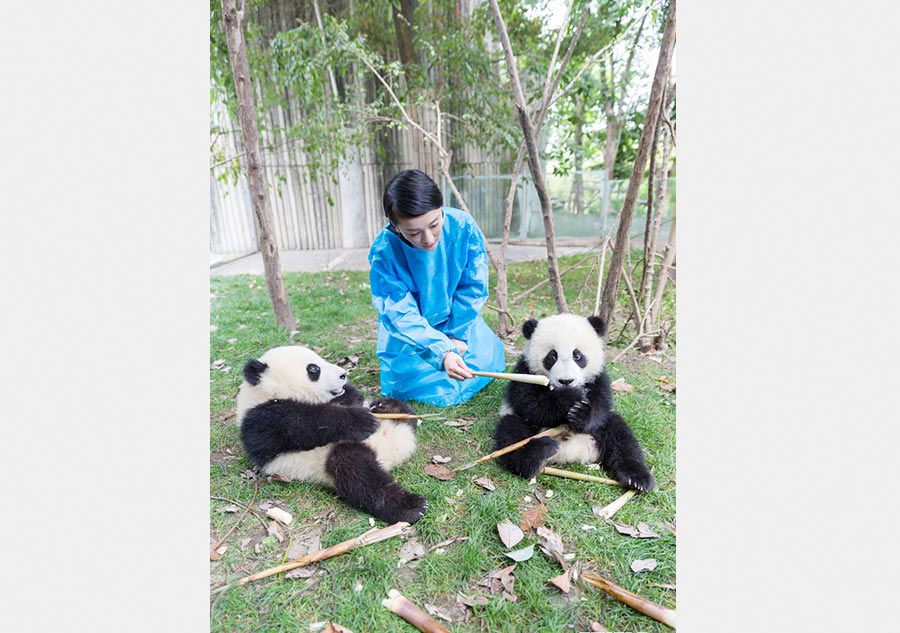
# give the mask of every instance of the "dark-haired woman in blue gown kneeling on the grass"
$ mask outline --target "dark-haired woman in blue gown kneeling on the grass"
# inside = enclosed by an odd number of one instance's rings
[[[490,382],[472,369],[506,368],[503,343],[479,314],[488,297],[484,238],[417,169],[391,178],[382,202],[388,225],[369,249],[381,393],[466,402]]]

